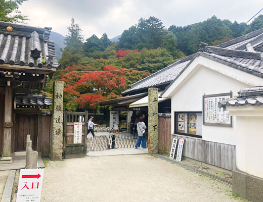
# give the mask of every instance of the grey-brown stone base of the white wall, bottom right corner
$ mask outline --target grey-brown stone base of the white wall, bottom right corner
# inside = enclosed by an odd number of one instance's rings
[[[247,173],[233,171],[233,194],[254,202],[263,201],[263,179]]]

